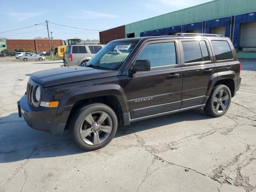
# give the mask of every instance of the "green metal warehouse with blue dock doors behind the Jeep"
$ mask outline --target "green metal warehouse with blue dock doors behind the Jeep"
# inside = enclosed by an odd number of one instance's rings
[[[233,41],[239,58],[256,58],[256,0],[213,0],[126,24],[123,38],[176,32],[223,34]]]

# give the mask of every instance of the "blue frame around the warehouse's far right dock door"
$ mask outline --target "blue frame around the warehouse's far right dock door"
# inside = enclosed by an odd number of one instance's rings
[[[256,21],[256,12],[250,12],[250,13],[235,16],[233,44],[236,48],[240,46],[239,44],[240,24],[247,23],[247,22],[254,22],[254,21]],[[255,35],[255,30],[252,30],[252,34]]]

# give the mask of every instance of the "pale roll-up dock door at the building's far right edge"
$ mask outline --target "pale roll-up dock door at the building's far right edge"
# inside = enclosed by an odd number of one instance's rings
[[[256,22],[241,23],[240,46],[256,47]]]

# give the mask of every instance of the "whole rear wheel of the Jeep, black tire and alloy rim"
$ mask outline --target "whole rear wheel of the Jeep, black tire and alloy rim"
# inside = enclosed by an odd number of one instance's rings
[[[213,117],[220,117],[228,111],[230,103],[230,89],[226,85],[217,85],[206,102],[204,112]]]

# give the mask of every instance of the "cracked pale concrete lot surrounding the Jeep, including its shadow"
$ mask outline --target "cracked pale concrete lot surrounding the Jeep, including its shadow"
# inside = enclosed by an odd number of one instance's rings
[[[61,64],[0,58],[1,192],[256,192],[256,60],[242,60],[226,115],[197,109],[132,123],[93,152],[18,118],[30,74]]]

